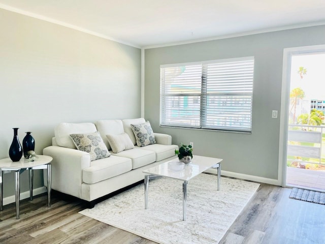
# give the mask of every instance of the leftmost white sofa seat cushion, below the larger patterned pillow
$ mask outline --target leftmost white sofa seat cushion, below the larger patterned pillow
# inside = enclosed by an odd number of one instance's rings
[[[90,167],[83,169],[82,180],[93,184],[132,170],[132,161],[128,158],[111,155],[109,158],[90,162]]]

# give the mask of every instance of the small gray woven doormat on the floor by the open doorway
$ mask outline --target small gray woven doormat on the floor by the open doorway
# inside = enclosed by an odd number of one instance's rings
[[[289,198],[307,201],[307,202],[325,204],[325,193],[309,191],[300,188],[293,188],[293,190],[289,195]]]

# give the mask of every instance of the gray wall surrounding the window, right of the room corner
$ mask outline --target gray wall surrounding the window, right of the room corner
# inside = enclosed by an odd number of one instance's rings
[[[325,25],[145,50],[145,117],[173,143],[194,142],[194,154],[222,158],[222,169],[278,177],[283,49],[325,44]],[[252,133],[159,127],[159,66],[233,57],[255,57]],[[279,117],[279,116],[278,116]]]

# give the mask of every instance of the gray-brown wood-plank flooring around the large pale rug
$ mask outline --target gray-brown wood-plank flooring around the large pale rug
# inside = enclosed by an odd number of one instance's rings
[[[325,243],[325,205],[289,199],[290,192],[261,184],[219,243]],[[43,195],[22,200],[16,220],[15,204],[6,205],[0,211],[0,243],[155,243],[78,214],[85,207],[81,201],[52,196],[48,208]]]

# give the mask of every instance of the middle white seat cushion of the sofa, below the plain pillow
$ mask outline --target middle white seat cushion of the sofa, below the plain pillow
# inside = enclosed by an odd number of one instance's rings
[[[140,168],[142,166],[151,164],[156,160],[156,154],[154,151],[142,150],[139,148],[124,150],[117,154],[114,154],[113,151],[110,151],[110,153],[111,155],[131,159],[132,169]]]

